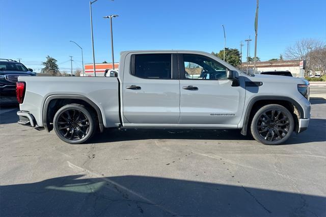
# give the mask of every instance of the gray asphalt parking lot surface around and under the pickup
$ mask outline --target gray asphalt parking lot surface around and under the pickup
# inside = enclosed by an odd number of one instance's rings
[[[0,109],[1,216],[325,216],[326,100],[266,146],[238,130],[106,130],[69,145]]]

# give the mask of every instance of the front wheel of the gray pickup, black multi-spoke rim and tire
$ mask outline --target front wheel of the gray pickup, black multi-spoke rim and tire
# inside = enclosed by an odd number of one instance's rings
[[[262,106],[254,115],[250,131],[253,138],[265,145],[279,145],[291,136],[294,129],[292,114],[282,105]]]

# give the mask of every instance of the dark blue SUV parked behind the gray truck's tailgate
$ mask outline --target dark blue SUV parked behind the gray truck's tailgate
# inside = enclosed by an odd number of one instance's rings
[[[15,91],[18,76],[35,76],[33,70],[11,59],[0,59],[0,92]]]

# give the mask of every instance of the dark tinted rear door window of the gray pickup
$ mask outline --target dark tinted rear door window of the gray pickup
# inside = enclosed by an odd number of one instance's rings
[[[147,79],[172,79],[171,54],[133,55],[131,74]]]

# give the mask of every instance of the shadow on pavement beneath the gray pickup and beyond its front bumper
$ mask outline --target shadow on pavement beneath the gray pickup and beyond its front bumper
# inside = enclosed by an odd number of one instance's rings
[[[326,141],[326,120],[311,119],[308,129],[300,134],[292,133],[283,145],[295,145]],[[252,141],[250,136],[241,135],[239,129],[105,129],[90,140],[90,143],[110,143],[132,140],[216,140],[218,141]]]

